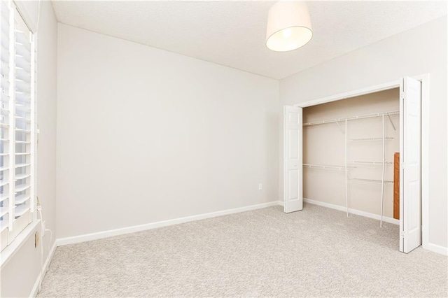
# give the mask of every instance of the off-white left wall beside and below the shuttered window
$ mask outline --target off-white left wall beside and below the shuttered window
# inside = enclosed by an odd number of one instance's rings
[[[43,208],[46,228],[55,232],[56,197],[56,56],[57,20],[50,1],[41,2],[38,28],[37,110],[41,129],[38,143],[37,194]],[[36,228],[41,233],[40,225]],[[48,246],[55,242],[50,234],[41,239],[43,260],[48,257]],[[34,248],[34,232],[23,246],[1,268],[0,297],[28,297],[41,270],[41,248]]]

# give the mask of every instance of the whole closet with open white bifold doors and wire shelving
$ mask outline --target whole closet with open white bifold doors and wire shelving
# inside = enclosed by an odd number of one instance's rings
[[[303,200],[393,219],[394,155],[400,157],[400,251],[421,245],[421,82],[285,106],[284,212]]]

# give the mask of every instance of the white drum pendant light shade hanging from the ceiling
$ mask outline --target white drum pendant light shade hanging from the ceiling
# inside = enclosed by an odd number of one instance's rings
[[[304,1],[279,1],[269,10],[266,46],[276,52],[295,50],[313,36],[308,6]]]

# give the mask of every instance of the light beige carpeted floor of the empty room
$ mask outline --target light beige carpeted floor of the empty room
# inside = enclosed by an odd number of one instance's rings
[[[314,205],[57,248],[38,297],[447,297],[447,257],[398,226]]]

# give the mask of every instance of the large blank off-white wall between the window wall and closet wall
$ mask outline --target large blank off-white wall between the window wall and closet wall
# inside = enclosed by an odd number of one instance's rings
[[[277,80],[59,24],[57,238],[276,201],[278,108]]]

